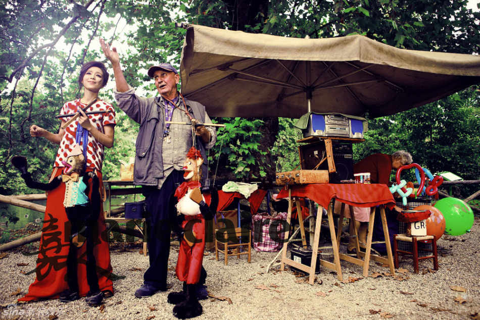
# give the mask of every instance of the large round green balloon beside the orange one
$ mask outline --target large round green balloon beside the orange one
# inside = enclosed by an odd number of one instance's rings
[[[468,204],[457,198],[443,198],[434,207],[445,218],[445,234],[460,236],[473,226],[473,211]]]

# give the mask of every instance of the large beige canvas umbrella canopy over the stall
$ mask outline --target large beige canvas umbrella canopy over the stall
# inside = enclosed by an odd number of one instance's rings
[[[181,92],[214,117],[376,118],[480,82],[480,57],[405,50],[361,35],[302,39],[187,27]]]

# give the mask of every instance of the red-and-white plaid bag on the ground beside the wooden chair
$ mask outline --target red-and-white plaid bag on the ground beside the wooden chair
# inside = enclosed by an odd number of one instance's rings
[[[283,247],[285,230],[290,230],[286,223],[286,212],[270,217],[266,212],[252,216],[252,239],[255,251],[277,252]]]

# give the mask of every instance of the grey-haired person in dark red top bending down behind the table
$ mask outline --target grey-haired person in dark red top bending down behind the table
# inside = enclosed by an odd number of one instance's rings
[[[353,166],[354,173],[369,172],[371,183],[380,183],[389,186],[390,174],[392,169],[397,170],[402,166],[412,163],[412,156],[409,152],[404,150],[395,151],[392,154],[374,153]],[[341,203],[335,201],[334,212],[340,214]],[[400,212],[402,209],[395,206],[395,211]],[[353,207],[355,215],[355,226],[350,220],[350,235],[354,234],[353,228],[357,230],[358,240],[360,241],[360,248],[364,249],[367,243],[367,228],[370,219],[370,208]],[[345,205],[345,218],[350,218],[350,208],[348,204]],[[347,246],[348,254],[356,254],[355,238],[350,238]]]

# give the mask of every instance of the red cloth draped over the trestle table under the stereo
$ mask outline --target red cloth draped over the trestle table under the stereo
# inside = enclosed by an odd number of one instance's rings
[[[323,207],[327,207],[332,198],[340,202],[359,207],[372,207],[386,204],[389,208],[396,205],[390,189],[383,184],[305,184],[290,186],[292,196],[308,198]],[[287,198],[289,190],[282,188],[277,198]]]

